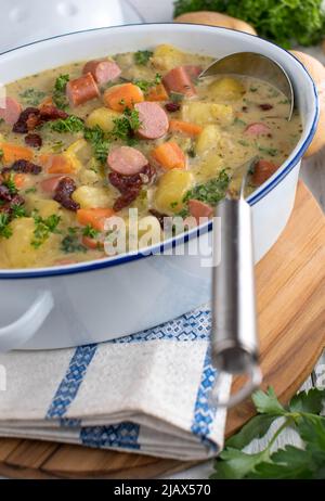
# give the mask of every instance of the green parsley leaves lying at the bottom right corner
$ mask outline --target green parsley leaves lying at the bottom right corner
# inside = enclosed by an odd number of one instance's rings
[[[324,479],[325,418],[322,410],[325,389],[300,391],[286,407],[280,403],[273,388],[266,393],[256,391],[252,401],[258,414],[226,440],[211,478]],[[263,437],[278,418],[283,422],[264,450],[253,454],[243,450],[253,439]],[[272,452],[277,437],[288,427],[299,434],[303,448],[288,445]]]

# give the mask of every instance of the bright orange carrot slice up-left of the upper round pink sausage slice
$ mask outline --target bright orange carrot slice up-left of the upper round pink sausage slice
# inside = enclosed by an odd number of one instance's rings
[[[114,86],[104,92],[104,103],[115,112],[123,112],[144,101],[142,90],[134,84]]]

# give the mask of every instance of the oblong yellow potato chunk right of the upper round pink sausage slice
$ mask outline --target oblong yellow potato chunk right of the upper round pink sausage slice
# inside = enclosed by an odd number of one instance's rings
[[[229,104],[195,101],[183,105],[182,118],[200,126],[216,123],[229,125],[233,120],[233,108]]]

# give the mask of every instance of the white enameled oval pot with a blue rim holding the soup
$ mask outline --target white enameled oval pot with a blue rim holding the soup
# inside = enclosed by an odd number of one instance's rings
[[[288,73],[303,119],[301,139],[281,169],[249,198],[256,260],[276,242],[290,216],[300,160],[318,115],[314,84],[288,52],[224,28],[152,24],[102,28],[31,43],[0,56],[3,84],[78,60],[172,43],[216,57],[253,51]],[[204,228],[203,242],[211,226]],[[196,235],[190,233],[190,239]],[[172,245],[178,242],[170,242]],[[210,298],[211,268],[202,256],[123,255],[68,267],[0,270],[0,349],[48,349],[98,343],[176,318]]]

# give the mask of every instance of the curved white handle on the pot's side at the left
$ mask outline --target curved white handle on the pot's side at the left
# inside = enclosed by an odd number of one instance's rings
[[[5,327],[0,327],[0,351],[18,348],[29,341],[41,327],[54,306],[50,291],[39,291],[28,310]]]

